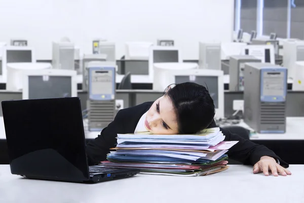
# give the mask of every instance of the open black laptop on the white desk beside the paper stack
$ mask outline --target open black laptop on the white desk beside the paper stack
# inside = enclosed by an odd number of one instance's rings
[[[80,98],[2,101],[11,173],[30,179],[96,183],[139,170],[88,166]]]

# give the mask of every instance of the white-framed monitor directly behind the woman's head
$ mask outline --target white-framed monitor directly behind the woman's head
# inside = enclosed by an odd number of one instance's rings
[[[223,71],[208,69],[172,70],[163,72],[160,80],[166,81],[163,83],[163,90],[171,84],[184,82],[194,82],[203,86],[207,85],[214,101],[216,110],[215,118],[224,117]]]

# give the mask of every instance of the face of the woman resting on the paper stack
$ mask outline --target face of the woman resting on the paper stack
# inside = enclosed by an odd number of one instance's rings
[[[178,126],[173,104],[167,95],[157,99],[145,118],[145,128],[154,134],[177,134]]]

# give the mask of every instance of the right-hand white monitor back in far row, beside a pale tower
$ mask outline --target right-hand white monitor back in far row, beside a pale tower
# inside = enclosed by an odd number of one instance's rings
[[[224,42],[221,43],[221,59],[229,60],[230,56],[241,55],[243,48],[247,43],[241,42]]]

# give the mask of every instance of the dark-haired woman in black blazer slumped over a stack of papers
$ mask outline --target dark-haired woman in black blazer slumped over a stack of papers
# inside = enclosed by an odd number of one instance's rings
[[[106,159],[109,149],[117,144],[118,133],[149,131],[155,134],[196,133],[207,127],[216,127],[215,108],[208,90],[196,83],[181,83],[168,88],[154,102],[123,109],[101,134],[87,145],[89,164]],[[291,175],[284,167],[288,164],[268,148],[245,140],[237,134],[220,128],[225,141],[239,141],[227,155],[244,164],[253,165],[253,173],[269,171],[274,176]],[[281,165],[282,166],[281,166]]]

